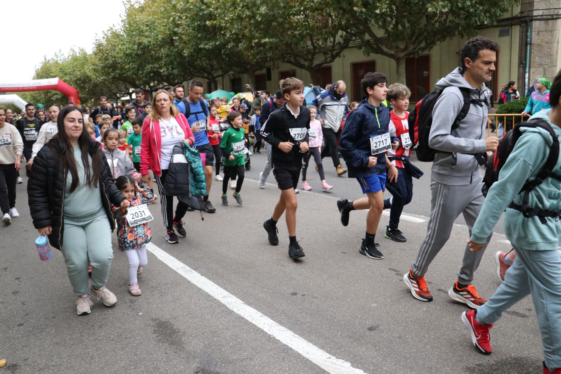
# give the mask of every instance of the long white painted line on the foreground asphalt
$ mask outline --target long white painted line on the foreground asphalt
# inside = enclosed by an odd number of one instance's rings
[[[146,249],[153,253],[154,256],[158,257],[158,259],[165,265],[168,265],[171,269],[182,275],[183,278],[187,279],[192,284],[196,285],[204,292],[223,303],[230,310],[236,312],[238,315],[265,331],[265,333],[296,350],[296,352],[300,353],[323,370],[331,374],[366,374],[364,371],[352,367],[351,363],[333,357],[324,350],[316,347],[314,344],[311,344],[309,341],[277,324],[277,322],[248,306],[225,289],[219,287],[203,275],[183,264],[183,262],[177,260],[177,258],[169,255],[169,253],[165,252],[158,246],[155,246],[155,244],[146,244]]]

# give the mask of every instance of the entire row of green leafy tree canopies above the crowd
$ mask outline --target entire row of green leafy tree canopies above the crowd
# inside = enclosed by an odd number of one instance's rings
[[[99,35],[91,53],[45,57],[34,78],[61,78],[84,105],[194,77],[213,89],[228,73],[247,74],[253,83],[256,71],[279,62],[306,70],[315,83],[318,69],[353,45],[394,59],[405,83],[405,58],[454,35],[475,35],[516,1],[125,0],[121,24]],[[45,105],[66,101],[56,91],[21,96]]]

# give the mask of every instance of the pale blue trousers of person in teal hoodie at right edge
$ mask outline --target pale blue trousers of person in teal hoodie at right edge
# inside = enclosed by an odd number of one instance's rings
[[[554,371],[561,367],[561,257],[558,250],[513,247],[516,260],[493,296],[477,309],[476,318],[481,324],[493,324],[504,311],[531,294],[544,345],[545,365]]]

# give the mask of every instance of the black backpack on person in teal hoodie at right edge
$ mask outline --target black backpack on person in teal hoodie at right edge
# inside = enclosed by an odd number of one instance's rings
[[[499,146],[497,147],[495,153],[487,161],[487,169],[485,170],[485,177],[483,178],[483,187],[481,192],[484,196],[487,196],[489,188],[493,186],[493,183],[499,180],[500,169],[503,168],[504,164],[507,162],[508,156],[512,153],[514,145],[518,141],[518,138],[522,135],[520,131],[521,127],[540,127],[549,132],[549,135],[553,138],[553,144],[549,148],[549,155],[545,161],[544,167],[540,170],[536,179],[531,182],[526,182],[522,186],[520,192],[524,192],[522,197],[522,205],[514,204],[513,202],[509,205],[509,208],[516,209],[522,212],[522,215],[526,218],[538,216],[541,223],[546,223],[545,217],[558,217],[561,215],[561,211],[550,211],[542,210],[537,208],[528,208],[528,201],[530,200],[530,192],[544,182],[545,178],[551,177],[561,180],[561,175],[553,172],[557,160],[559,159],[559,139],[550,124],[543,120],[535,120],[518,123],[513,130],[509,130],[505,133],[504,137],[499,141]]]

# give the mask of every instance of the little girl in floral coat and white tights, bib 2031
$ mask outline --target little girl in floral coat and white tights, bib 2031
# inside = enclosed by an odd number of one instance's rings
[[[154,197],[152,192],[140,188],[131,176],[118,177],[115,185],[130,202],[130,207],[152,204]],[[140,192],[140,196],[137,196],[136,192]],[[117,220],[119,250],[125,252],[128,260],[128,292],[133,296],[140,296],[142,292],[139,288],[137,276],[142,274],[142,268],[148,265],[146,244],[150,243],[152,233],[148,222],[131,227],[126,218],[127,211],[126,208],[115,206],[113,207],[113,216]]]

